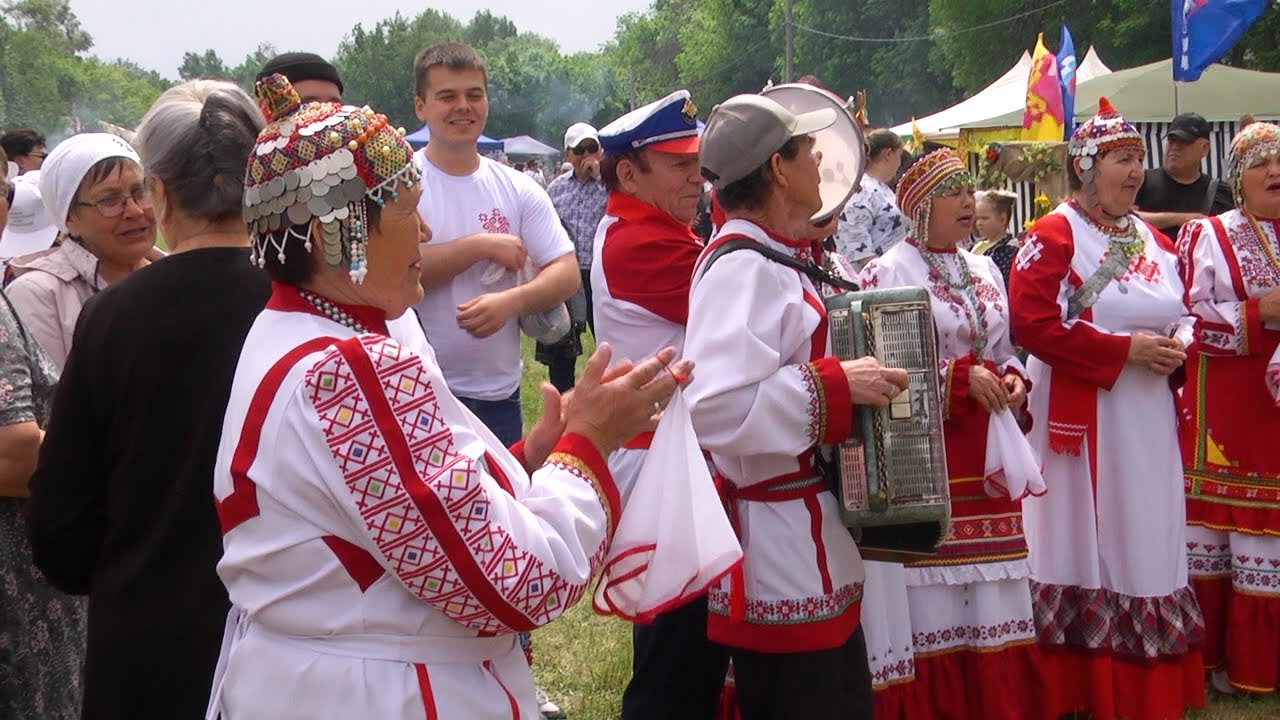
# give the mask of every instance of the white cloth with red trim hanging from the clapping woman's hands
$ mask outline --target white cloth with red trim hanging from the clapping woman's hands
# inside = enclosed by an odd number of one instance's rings
[[[677,389],[613,533],[591,605],[602,615],[649,623],[703,594],[741,561]]]

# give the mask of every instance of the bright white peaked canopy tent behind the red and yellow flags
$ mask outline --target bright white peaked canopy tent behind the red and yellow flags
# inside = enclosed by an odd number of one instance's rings
[[[915,126],[924,133],[925,140],[940,142],[955,141],[960,137],[960,126],[1009,113],[1021,110],[1027,105],[1027,78],[1032,72],[1032,55],[1023,50],[1018,64],[1009,68],[1009,72],[1000,76],[996,82],[982,88],[972,97],[956,105],[940,110],[932,115],[918,118]],[[1110,74],[1098,54],[1089,47],[1084,59],[1076,65],[1075,82],[1079,83]],[[911,135],[911,123],[902,123],[892,128],[901,137]]]

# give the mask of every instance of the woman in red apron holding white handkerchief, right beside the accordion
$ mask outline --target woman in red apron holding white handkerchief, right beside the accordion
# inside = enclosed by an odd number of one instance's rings
[[[1014,416],[1028,382],[1009,340],[1005,282],[989,258],[956,246],[969,237],[974,193],[973,177],[952,151],[911,165],[899,181],[897,201],[911,218],[913,237],[872,260],[859,282],[929,291],[946,388],[951,529],[936,557],[905,568],[915,682],[902,685],[905,697],[877,694],[876,715],[1034,717],[1044,669],[1020,505],[1044,488]],[[1023,473],[1002,462],[1007,446],[1027,459]],[[882,708],[884,701],[900,706]]]

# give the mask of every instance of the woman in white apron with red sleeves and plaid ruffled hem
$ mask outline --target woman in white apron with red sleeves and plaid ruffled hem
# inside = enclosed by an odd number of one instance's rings
[[[1068,145],[1070,200],[1032,227],[1010,277],[1048,486],[1023,503],[1051,678],[1038,707],[1094,720],[1204,702],[1174,392],[1194,319],[1172,243],[1130,211],[1143,156],[1100,101]]]

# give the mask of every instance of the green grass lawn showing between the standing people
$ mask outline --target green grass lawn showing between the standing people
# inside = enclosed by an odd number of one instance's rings
[[[534,343],[522,337],[525,378],[525,429],[541,410],[539,386],[547,366],[534,360]],[[585,351],[594,345],[584,336]],[[586,355],[579,357],[579,370]],[[1276,648],[1280,652],[1280,648]],[[631,676],[631,625],[596,615],[586,596],[562,618],[534,633],[534,676],[570,720],[614,720],[622,703],[622,688]],[[1194,720],[1280,719],[1280,697],[1234,697],[1210,693],[1208,707],[1188,715]],[[913,719],[914,720],[914,719]],[[927,719],[919,719],[927,720]]]

